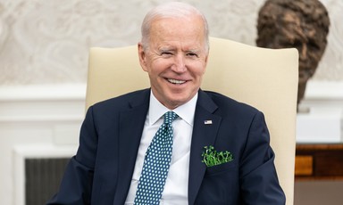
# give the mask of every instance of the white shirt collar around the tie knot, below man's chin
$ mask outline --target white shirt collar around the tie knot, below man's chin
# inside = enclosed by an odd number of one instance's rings
[[[149,125],[155,124],[158,119],[161,119],[163,114],[167,111],[170,111],[166,108],[161,102],[159,102],[152,91],[150,91],[150,102],[149,102],[149,111],[148,111],[148,118],[149,118]],[[190,126],[193,126],[194,122],[194,115],[196,112],[196,105],[197,105],[197,94],[194,95],[190,101],[180,105],[179,107],[175,108],[174,111],[181,119],[185,120]]]

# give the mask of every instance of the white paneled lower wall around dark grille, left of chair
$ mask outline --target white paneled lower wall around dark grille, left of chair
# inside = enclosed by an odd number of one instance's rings
[[[76,152],[84,85],[0,88],[0,204],[22,205],[26,157]]]

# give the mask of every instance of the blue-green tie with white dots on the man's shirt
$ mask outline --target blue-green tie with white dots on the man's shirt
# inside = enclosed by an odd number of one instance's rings
[[[164,114],[164,121],[157,130],[146,151],[142,174],[139,178],[135,205],[159,204],[168,170],[171,164],[172,127],[171,122],[178,115],[173,111]]]

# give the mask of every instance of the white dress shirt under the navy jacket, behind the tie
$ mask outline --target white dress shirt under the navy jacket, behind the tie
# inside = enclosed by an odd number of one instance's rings
[[[197,94],[187,103],[173,110],[179,118],[172,122],[173,146],[171,155],[171,167],[164,185],[162,199],[163,205],[188,204],[188,172],[190,143],[193,132],[194,114],[196,111]],[[163,114],[170,111],[158,102],[154,94],[150,94],[149,111],[140,140],[135,169],[132,175],[130,190],[125,204],[133,204],[135,201],[138,180],[143,168],[146,149],[158,128],[163,124]]]

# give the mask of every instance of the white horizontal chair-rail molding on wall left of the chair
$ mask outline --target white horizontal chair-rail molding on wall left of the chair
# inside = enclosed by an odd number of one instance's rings
[[[79,121],[86,85],[0,86],[0,123]]]

